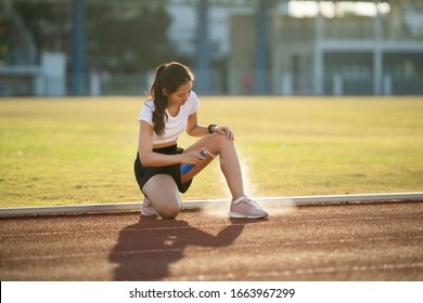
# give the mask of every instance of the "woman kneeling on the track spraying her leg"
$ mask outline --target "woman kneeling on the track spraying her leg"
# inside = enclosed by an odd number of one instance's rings
[[[178,192],[185,193],[192,179],[219,156],[221,171],[232,194],[229,216],[267,216],[268,213],[244,194],[232,131],[227,127],[197,123],[200,103],[192,91],[193,81],[190,68],[180,63],[163,64],[156,69],[151,87],[152,100],[145,102],[139,118],[134,173],[145,196],[141,213],[175,219],[182,206]],[[202,137],[187,149],[177,145],[178,136],[184,130],[191,136]],[[195,167],[182,173],[181,164]]]

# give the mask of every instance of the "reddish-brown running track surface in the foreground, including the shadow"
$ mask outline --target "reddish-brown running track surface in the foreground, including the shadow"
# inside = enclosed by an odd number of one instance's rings
[[[423,280],[422,201],[0,219],[5,280]]]

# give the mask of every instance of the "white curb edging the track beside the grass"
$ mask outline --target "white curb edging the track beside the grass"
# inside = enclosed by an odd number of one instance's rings
[[[325,205],[342,202],[375,202],[375,201],[407,201],[423,200],[423,193],[393,193],[393,194],[363,194],[363,195],[331,195],[331,196],[297,196],[297,197],[265,197],[255,198],[260,203],[278,202],[294,205]],[[182,202],[183,209],[196,209],[213,203],[229,203],[228,199],[214,200],[187,200]],[[63,213],[99,213],[117,211],[139,211],[137,203],[104,203],[86,206],[60,206],[60,207],[30,207],[30,208],[1,208],[0,216],[63,214]]]

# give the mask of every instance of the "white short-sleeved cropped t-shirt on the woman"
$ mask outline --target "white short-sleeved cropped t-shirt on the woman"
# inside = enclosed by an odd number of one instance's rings
[[[200,107],[200,101],[196,94],[191,91],[190,96],[187,102],[181,105],[179,113],[176,117],[172,117],[169,111],[166,109],[167,122],[165,123],[165,133],[162,136],[158,136],[153,131],[153,145],[163,144],[167,142],[175,141],[179,135],[185,130],[188,117],[194,114]],[[145,102],[144,106],[141,109],[140,118],[138,121],[146,121],[150,126],[154,128],[153,123],[153,111],[154,103],[152,100]]]

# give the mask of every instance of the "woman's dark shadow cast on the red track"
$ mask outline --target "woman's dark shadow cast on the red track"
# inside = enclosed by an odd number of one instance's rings
[[[141,216],[119,233],[110,254],[117,263],[115,280],[162,280],[169,265],[184,256],[188,246],[220,248],[230,246],[251,220],[235,220],[216,236],[189,225],[183,220],[157,220]],[[203,273],[206,274],[206,273]]]

